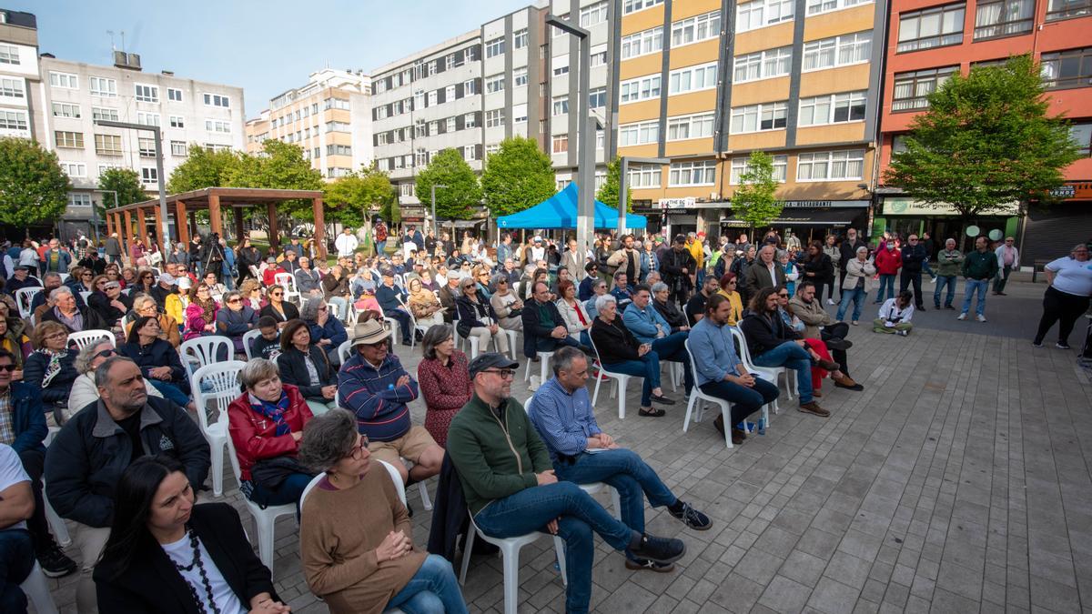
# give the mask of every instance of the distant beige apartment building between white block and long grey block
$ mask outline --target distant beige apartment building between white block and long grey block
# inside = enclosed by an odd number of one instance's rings
[[[305,85],[278,94],[246,122],[246,150],[256,153],[266,139],[278,139],[299,145],[328,179],[357,170],[373,157],[370,94],[363,70],[312,72]]]

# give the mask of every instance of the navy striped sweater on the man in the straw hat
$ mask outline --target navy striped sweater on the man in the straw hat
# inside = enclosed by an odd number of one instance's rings
[[[391,441],[410,432],[410,408],[406,403],[417,398],[417,381],[396,386],[400,377],[408,375],[394,354],[388,354],[383,364],[371,366],[354,353],[337,373],[337,397],[341,406],[356,414],[357,428],[372,441]]]

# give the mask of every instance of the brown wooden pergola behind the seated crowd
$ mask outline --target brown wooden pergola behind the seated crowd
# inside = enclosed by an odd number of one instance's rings
[[[242,212],[240,209],[264,204],[270,221],[270,248],[274,251],[280,247],[280,233],[276,225],[277,204],[288,200],[310,200],[314,212],[314,243],[316,250],[321,258],[327,257],[324,220],[322,211],[322,191],[320,190],[274,190],[260,188],[205,188],[167,197],[168,215],[175,216],[175,228],[178,236],[174,237],[182,243],[189,243],[190,228],[197,228],[198,211],[209,210],[209,222],[212,232],[224,236],[221,211],[224,206],[232,208],[235,214],[236,236],[241,238],[244,233]],[[147,243],[149,216],[155,216],[155,234],[159,243],[159,248],[166,252],[170,251],[170,246],[166,243],[168,237],[163,236],[163,219],[159,211],[159,200],[145,200],[134,202],[124,206],[111,209],[106,212],[106,231],[108,234],[118,233],[131,245],[134,238],[140,238]],[[133,217],[136,221],[136,232],[133,233]]]

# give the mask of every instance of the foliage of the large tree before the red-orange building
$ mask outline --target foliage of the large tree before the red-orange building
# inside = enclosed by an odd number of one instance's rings
[[[1030,56],[952,75],[912,121],[906,150],[892,156],[885,182],[919,202],[950,204],[964,219],[1048,199],[1078,152],[1066,122],[1047,113],[1044,94]]]

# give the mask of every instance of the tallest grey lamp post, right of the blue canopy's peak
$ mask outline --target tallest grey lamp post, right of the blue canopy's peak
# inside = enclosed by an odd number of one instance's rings
[[[579,249],[589,249],[595,233],[595,127],[597,121],[589,113],[587,99],[589,79],[591,72],[591,33],[572,22],[567,22],[557,15],[546,15],[546,24],[568,32],[580,40],[580,82],[577,95],[580,104],[577,113],[578,147],[580,163],[578,168],[578,185],[580,191],[577,200],[577,245]]]

